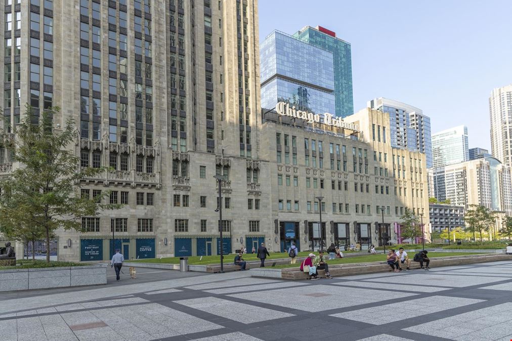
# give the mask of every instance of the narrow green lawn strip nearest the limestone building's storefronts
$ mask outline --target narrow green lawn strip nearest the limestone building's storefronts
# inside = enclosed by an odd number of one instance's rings
[[[305,251],[298,253],[299,257],[306,257],[309,255],[311,251]],[[344,254],[350,254],[354,253],[352,251],[344,251]],[[225,255],[224,256],[224,263],[229,264],[234,261],[235,254],[231,255]],[[288,254],[286,252],[271,252],[270,258],[267,257],[267,259],[278,259],[278,258],[288,258]],[[255,261],[258,260],[256,258],[256,254],[245,254],[243,256],[243,259],[245,261]],[[219,264],[221,261],[220,256],[191,256],[188,257],[188,264],[195,264],[195,265],[206,265],[206,264]],[[165,257],[162,259],[159,258],[149,258],[149,259],[137,259],[137,260],[130,260],[130,263],[161,263],[161,264],[179,264],[180,258],[179,257]]]

